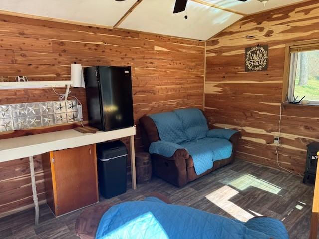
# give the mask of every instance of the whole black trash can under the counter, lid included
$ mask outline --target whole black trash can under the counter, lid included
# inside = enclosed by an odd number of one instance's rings
[[[99,189],[104,198],[126,192],[127,155],[121,141],[97,144]]]

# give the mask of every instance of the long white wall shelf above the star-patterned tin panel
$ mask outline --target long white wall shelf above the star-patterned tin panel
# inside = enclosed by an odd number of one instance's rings
[[[0,89],[17,88],[43,88],[72,85],[73,81],[26,81],[26,82],[0,82]]]

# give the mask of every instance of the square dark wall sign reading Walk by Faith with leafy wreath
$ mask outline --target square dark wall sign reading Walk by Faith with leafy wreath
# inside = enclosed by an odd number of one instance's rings
[[[267,71],[268,45],[248,47],[245,50],[245,71]]]

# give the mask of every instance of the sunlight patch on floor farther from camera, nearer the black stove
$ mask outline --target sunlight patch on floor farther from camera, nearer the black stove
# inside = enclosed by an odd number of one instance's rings
[[[243,191],[247,189],[250,186],[253,186],[255,188],[259,188],[261,190],[278,194],[281,190],[280,187],[269,183],[265,180],[258,179],[257,177],[251,175],[251,174],[245,174],[229,183],[229,185],[239,189],[240,191]]]

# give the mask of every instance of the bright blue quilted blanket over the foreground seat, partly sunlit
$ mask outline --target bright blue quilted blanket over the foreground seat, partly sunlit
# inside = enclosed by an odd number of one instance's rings
[[[163,239],[288,239],[284,225],[275,221],[274,228],[260,221],[258,228],[264,229],[260,232],[237,220],[149,197],[111,207],[100,221],[96,239],[158,239],[159,235]]]

